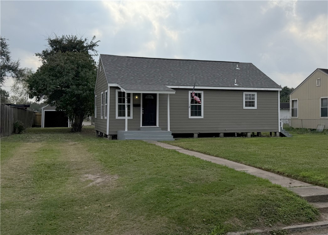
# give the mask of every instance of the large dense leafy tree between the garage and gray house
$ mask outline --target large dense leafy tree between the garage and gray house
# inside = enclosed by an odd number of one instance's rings
[[[30,98],[44,100],[69,117],[72,131],[81,131],[85,116],[92,114],[99,41],[73,35],[48,38],[48,48],[36,53],[42,65],[27,79]]]

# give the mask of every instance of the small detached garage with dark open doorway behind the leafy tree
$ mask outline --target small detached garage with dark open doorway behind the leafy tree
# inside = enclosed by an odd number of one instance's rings
[[[41,108],[41,127],[70,127],[70,121],[63,111],[56,111],[55,106]]]

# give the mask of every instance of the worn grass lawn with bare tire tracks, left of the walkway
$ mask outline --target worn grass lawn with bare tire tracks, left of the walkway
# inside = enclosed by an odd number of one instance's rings
[[[267,180],[143,141],[96,138],[92,127],[1,139],[4,235],[223,234],[318,216]]]

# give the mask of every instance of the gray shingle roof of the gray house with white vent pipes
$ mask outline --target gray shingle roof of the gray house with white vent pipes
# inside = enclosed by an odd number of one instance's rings
[[[126,90],[172,91],[169,86],[281,88],[252,63],[100,54],[108,83]],[[236,69],[238,65],[239,69]]]

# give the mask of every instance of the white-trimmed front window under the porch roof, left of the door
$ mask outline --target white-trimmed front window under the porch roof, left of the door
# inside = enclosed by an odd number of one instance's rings
[[[133,94],[127,93],[128,103],[125,104],[125,92],[119,89],[116,90],[116,119],[125,118],[125,106],[128,106],[128,119],[133,117]]]

